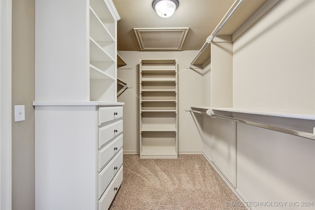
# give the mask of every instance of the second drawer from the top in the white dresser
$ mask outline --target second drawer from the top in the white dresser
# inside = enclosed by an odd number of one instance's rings
[[[98,148],[123,132],[123,120],[98,128]]]

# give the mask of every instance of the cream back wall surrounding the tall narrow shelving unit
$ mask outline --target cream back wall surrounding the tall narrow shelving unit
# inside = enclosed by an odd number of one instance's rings
[[[179,153],[200,153],[201,134],[195,126],[189,109],[192,105],[203,103],[202,75],[186,68],[197,51],[180,52],[137,52],[119,51],[127,65],[118,69],[118,78],[127,83],[124,92],[118,92],[118,101],[124,106],[124,152],[139,153],[139,60],[177,59],[178,61],[178,151]]]

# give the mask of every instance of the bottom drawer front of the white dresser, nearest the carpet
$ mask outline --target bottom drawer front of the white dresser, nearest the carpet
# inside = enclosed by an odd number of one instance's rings
[[[123,182],[123,166],[118,171],[117,175],[110,183],[103,196],[98,201],[98,210],[108,210],[112,203],[120,185]]]

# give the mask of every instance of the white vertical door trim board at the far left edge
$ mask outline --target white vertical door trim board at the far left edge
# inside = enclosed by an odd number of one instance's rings
[[[0,1],[0,209],[12,209],[12,0]]]

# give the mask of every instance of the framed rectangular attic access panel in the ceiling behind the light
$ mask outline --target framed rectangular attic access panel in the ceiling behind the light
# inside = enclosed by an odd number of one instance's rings
[[[134,28],[139,47],[147,51],[181,50],[189,28]]]

